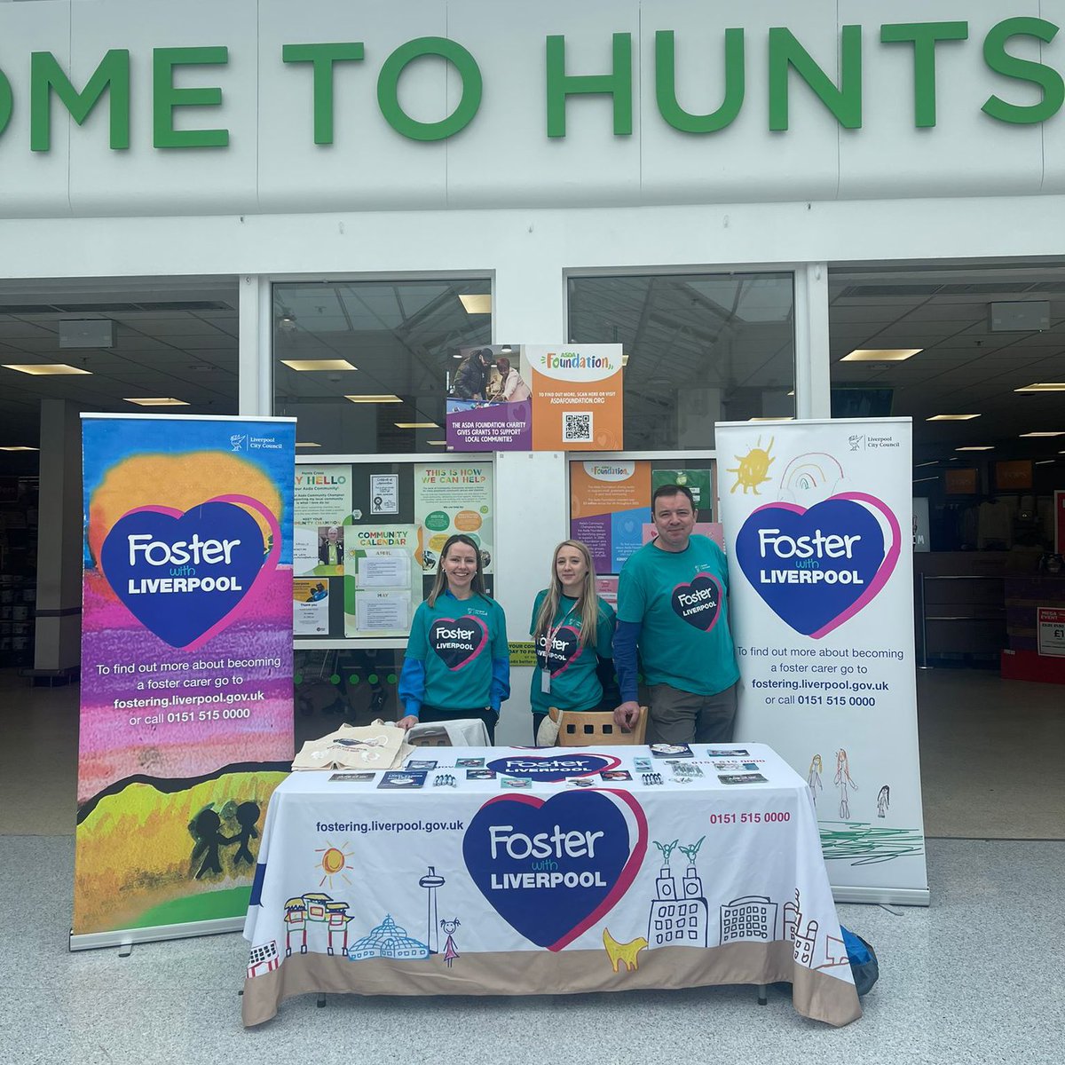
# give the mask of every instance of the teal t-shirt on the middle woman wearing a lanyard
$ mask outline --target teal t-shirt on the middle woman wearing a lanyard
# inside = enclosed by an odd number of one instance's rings
[[[529,635],[536,629],[536,619],[546,596],[546,590],[537,595],[532,605],[532,620]],[[536,669],[529,688],[529,702],[534,714],[546,714],[552,706],[560,710],[591,710],[599,706],[603,698],[603,685],[595,674],[600,658],[611,658],[613,652],[615,613],[609,603],[596,599],[599,617],[595,619],[595,643],[580,646],[581,619],[577,613],[577,601],[563,595],[552,620],[551,627],[557,628],[552,648],[546,648],[546,636],[540,638],[536,648]],[[551,673],[551,692],[543,690],[543,671]]]

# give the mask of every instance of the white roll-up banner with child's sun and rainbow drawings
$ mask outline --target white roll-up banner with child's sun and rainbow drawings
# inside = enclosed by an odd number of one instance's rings
[[[910,419],[724,423],[736,738],[806,777],[835,897],[927,905]]]

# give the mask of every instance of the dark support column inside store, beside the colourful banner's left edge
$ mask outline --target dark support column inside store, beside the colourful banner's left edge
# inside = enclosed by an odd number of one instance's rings
[[[78,405],[42,399],[34,669],[81,661],[82,510]]]

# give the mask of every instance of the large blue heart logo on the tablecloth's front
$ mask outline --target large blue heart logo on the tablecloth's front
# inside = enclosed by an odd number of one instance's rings
[[[626,817],[627,814],[627,817]],[[648,849],[648,822],[625,791],[564,791],[546,801],[498,796],[462,838],[481,895],[521,936],[561,950],[628,890]]]

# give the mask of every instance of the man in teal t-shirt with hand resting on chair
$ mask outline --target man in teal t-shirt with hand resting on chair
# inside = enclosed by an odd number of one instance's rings
[[[651,693],[648,742],[727,743],[739,670],[724,552],[692,532],[695,506],[684,486],[663,485],[651,507],[658,536],[625,562],[618,585],[615,720],[629,726],[639,715],[638,646]]]

